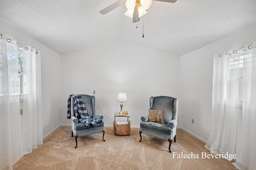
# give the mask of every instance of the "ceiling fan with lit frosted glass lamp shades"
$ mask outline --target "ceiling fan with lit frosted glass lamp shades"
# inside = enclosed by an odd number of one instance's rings
[[[160,2],[174,3],[177,0],[154,0]],[[132,18],[132,22],[140,21],[140,17],[146,14],[146,10],[151,6],[152,0],[119,0],[118,2],[108,6],[107,8],[100,11],[101,14],[106,14],[115,8],[125,4],[127,11],[126,16]]]

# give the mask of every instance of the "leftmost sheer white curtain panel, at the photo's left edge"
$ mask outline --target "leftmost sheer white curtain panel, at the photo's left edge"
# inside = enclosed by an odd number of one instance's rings
[[[0,169],[12,168],[23,156],[17,63],[16,41],[0,34]]]

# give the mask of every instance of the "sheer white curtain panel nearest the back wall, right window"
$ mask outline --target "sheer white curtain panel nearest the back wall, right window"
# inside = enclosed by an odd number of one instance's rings
[[[206,148],[213,154],[234,154],[239,111],[239,52],[214,56],[212,85],[212,131]],[[235,62],[233,62],[235,60]]]

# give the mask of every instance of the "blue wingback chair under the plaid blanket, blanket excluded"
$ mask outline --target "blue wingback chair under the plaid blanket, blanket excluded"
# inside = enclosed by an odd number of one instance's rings
[[[102,121],[103,116],[102,115],[96,115],[95,113],[95,97],[94,96],[90,96],[90,95],[81,95],[82,99],[83,99],[83,103],[85,105],[86,111],[88,113],[88,115],[91,118],[94,119],[100,119]],[[74,113],[74,107],[73,107],[73,103],[74,103],[74,98],[71,97],[71,119],[72,119],[72,124],[71,124],[71,129],[72,129],[72,137],[74,134],[74,137],[76,139],[76,146],[75,148],[77,148],[77,138],[78,136],[85,136],[88,134],[94,134],[94,133],[100,133],[103,132],[103,141],[104,140],[104,134],[105,134],[105,130],[104,130],[104,122],[102,121],[101,123],[97,123],[94,127],[90,128],[90,127],[86,127],[86,125],[84,125],[83,123],[80,123],[80,121],[78,121],[78,119],[75,116]]]

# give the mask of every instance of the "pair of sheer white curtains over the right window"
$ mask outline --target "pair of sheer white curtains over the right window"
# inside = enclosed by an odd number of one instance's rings
[[[252,69],[254,51],[255,45],[245,45],[241,50],[230,49],[228,52],[214,55],[212,130],[205,146],[213,154],[228,152],[239,155],[236,151],[236,141],[238,128],[242,128],[242,153],[249,148],[251,157],[246,152],[247,160],[256,156],[255,150],[252,149],[254,145],[249,142],[255,141],[255,133],[250,130],[251,127],[255,128],[255,121],[250,120],[255,120],[256,114],[252,105],[253,102],[256,104],[256,91],[253,90],[256,72]],[[247,68],[248,65],[251,69]],[[239,117],[242,117],[242,120]],[[242,127],[238,127],[240,124]]]

